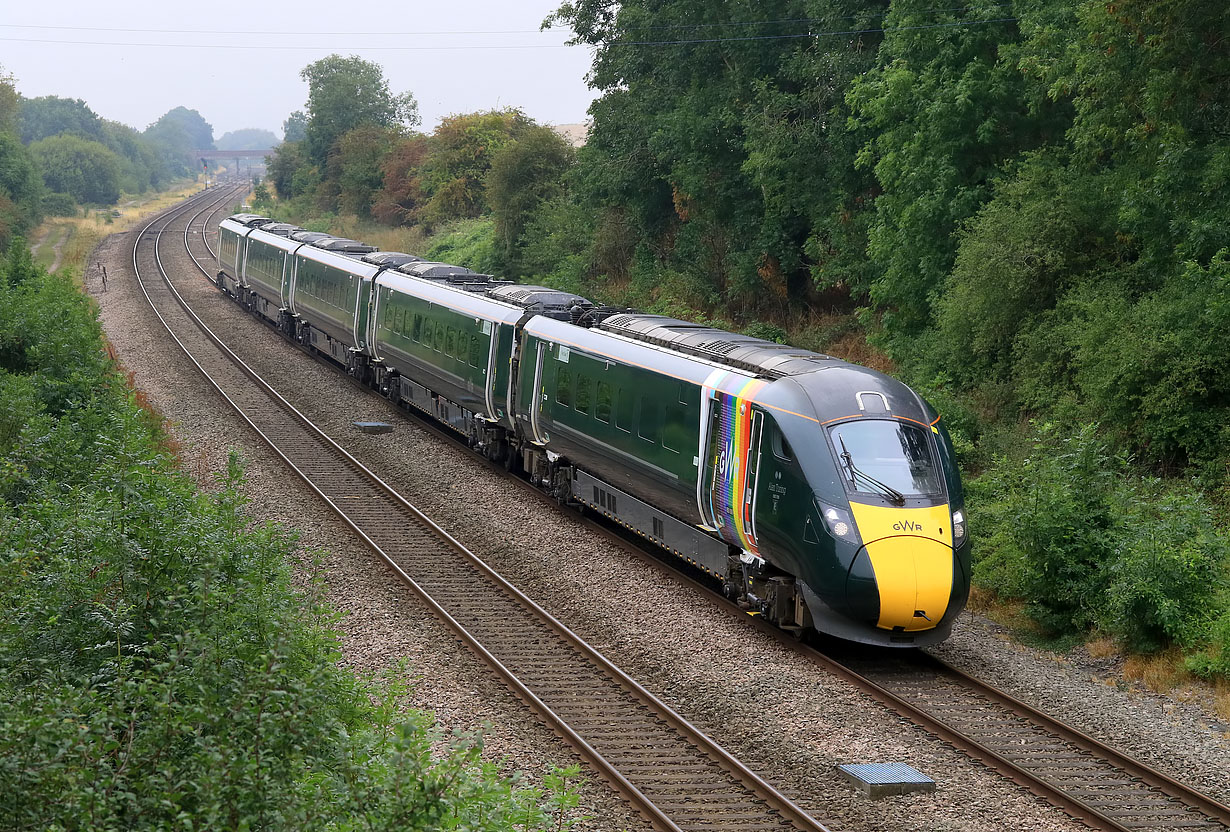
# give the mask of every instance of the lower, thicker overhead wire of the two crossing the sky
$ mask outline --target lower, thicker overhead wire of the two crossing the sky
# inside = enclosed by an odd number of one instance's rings
[[[453,44],[453,46],[354,46],[339,47],[330,46],[298,46],[277,43],[132,43],[121,41],[63,41],[58,38],[6,38],[0,37],[0,42],[9,43],[50,43],[60,46],[95,46],[95,47],[164,47],[173,49],[261,49],[261,50],[327,50],[327,52],[451,52],[451,50],[483,50],[483,49],[567,49],[579,46],[597,47],[663,47],[663,46],[688,46],[700,43],[739,43],[748,41],[798,41],[803,38],[819,37],[846,37],[851,34],[888,34],[892,32],[918,32],[922,30],[957,28],[966,26],[985,26],[988,23],[1010,23],[1018,21],[1018,17],[995,17],[991,20],[967,20],[952,23],[927,23],[922,26],[897,26],[888,28],[852,28],[831,30],[822,32],[800,32],[795,34],[749,34],[742,37],[716,37],[716,38],[691,38],[680,41],[604,41],[595,44],[584,43],[480,43],[480,44]]]

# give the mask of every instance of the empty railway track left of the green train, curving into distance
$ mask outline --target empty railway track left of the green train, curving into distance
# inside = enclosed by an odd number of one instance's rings
[[[162,325],[244,421],[654,827],[825,830],[385,485],[209,331],[175,289],[160,242],[183,223],[184,246],[209,277],[188,245],[191,224],[230,197],[207,193],[156,217],[132,254]]]

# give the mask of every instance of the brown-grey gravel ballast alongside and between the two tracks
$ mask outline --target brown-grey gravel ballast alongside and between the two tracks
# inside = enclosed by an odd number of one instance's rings
[[[344,524],[260,444],[177,352],[135,290],[123,238],[100,258],[113,274],[97,294],[103,326],[135,384],[173,423],[194,471],[220,470],[230,447],[248,459],[253,516],[326,549],[330,599],[346,661],[378,672],[408,658],[415,703],[449,730],[486,725],[486,747],[531,773],[574,754],[542,727]],[[164,261],[205,322],[305,415],[407,500],[616,665],[707,731],[833,828],[1084,828],[1022,789],[889,714],[689,586],[496,475],[384,400],[312,361],[225,299],[167,246]],[[101,287],[91,287],[101,288]],[[159,329],[155,329],[159,327]],[[354,421],[383,421],[369,436]],[[1107,686],[1087,667],[1015,645],[967,615],[938,654],[1172,777],[1230,799],[1226,726],[1194,704]],[[934,794],[870,801],[843,783],[841,763],[905,762],[935,778]],[[645,823],[601,783],[583,789],[597,830]]]

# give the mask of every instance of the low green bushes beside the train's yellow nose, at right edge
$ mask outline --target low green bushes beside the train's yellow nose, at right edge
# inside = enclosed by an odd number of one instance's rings
[[[975,574],[1049,634],[1199,645],[1224,608],[1230,544],[1198,492],[1124,466],[1092,425],[1042,426],[1025,458],[969,484]]]

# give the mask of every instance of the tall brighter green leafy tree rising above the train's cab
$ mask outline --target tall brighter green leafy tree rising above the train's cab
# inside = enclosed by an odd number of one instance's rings
[[[894,0],[875,69],[849,94],[859,164],[882,187],[868,252],[886,325],[916,335],[952,268],[954,233],[990,196],[1005,160],[1063,129],[1063,114],[1031,101],[1017,68],[1020,26],[1002,4],[979,0],[936,12],[927,0]]]

